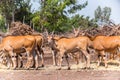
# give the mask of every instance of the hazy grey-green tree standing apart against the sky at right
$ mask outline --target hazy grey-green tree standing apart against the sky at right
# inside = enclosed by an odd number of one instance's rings
[[[98,6],[98,8],[95,10],[95,13],[94,13],[95,20],[100,25],[109,24],[110,15],[111,15],[110,7],[104,7],[103,9],[101,9],[101,7]]]

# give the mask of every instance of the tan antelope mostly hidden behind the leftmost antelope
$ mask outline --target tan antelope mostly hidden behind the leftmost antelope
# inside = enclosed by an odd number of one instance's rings
[[[35,47],[35,53],[36,54],[33,55],[33,56],[35,56],[34,58],[35,58],[35,62],[36,62],[36,63],[34,63],[34,66],[36,66],[36,67],[39,66],[39,64],[38,64],[38,57],[40,56],[41,60],[42,60],[42,67],[43,67],[44,66],[44,52],[42,50],[43,36],[40,35],[40,34],[35,34],[35,35],[31,35],[31,36],[35,37],[35,39],[36,39],[36,47]],[[24,53],[24,55],[25,55],[25,50],[23,50],[23,51],[16,51],[16,54],[18,55],[18,58],[20,60],[19,68],[22,67],[22,64],[23,64],[23,59],[22,59],[23,57],[22,57],[22,55],[20,53]],[[12,63],[11,63],[11,65],[12,65]]]

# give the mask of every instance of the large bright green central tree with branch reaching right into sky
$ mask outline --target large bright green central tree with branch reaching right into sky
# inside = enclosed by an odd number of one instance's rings
[[[87,2],[77,4],[77,0],[41,0],[39,27],[47,28],[49,31],[63,32],[70,27],[68,26],[69,17],[66,14],[74,14],[86,5]]]

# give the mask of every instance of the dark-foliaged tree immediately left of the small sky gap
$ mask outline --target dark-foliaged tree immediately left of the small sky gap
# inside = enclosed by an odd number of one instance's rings
[[[32,19],[30,0],[19,1],[18,6],[15,11],[15,21],[21,21],[27,24],[30,24]]]

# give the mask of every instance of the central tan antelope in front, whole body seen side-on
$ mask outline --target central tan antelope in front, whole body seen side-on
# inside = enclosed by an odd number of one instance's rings
[[[86,36],[79,36],[75,38],[65,38],[61,37],[59,39],[55,39],[53,36],[48,37],[48,42],[53,41],[56,45],[56,48],[58,49],[58,63],[61,69],[61,63],[62,58],[64,55],[67,55],[67,53],[71,53],[74,49],[81,50],[82,53],[87,58],[86,67],[90,67],[90,55],[87,52],[87,47],[91,46],[92,42],[90,39]],[[69,62],[68,63],[68,69],[70,69]]]

